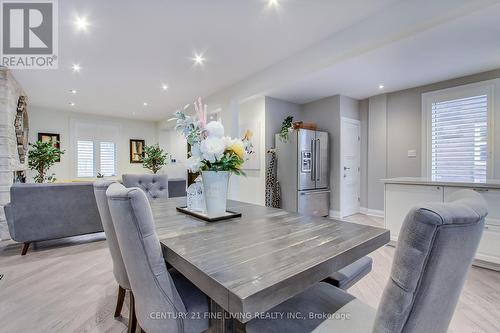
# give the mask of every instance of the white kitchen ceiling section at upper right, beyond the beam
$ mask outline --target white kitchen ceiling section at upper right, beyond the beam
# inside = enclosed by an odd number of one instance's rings
[[[303,104],[341,94],[357,99],[500,68],[500,5],[336,63],[266,95]],[[379,84],[385,88],[379,90]]]

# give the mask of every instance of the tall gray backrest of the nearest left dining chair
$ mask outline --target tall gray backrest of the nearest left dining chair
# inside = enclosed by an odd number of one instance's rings
[[[145,193],[111,184],[106,195],[141,328],[150,333],[184,332],[179,313],[186,308],[167,271]]]

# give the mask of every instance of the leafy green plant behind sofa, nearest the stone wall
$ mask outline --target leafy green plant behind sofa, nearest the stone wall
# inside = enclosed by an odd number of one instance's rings
[[[37,141],[30,144],[31,149],[28,152],[28,167],[37,172],[34,177],[36,183],[44,181],[54,181],[54,174],[46,178],[46,173],[54,163],[56,163],[64,151],[54,146],[53,141]]]

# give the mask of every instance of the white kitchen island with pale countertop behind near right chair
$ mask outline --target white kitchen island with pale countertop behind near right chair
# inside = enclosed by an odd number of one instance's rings
[[[500,180],[461,182],[420,177],[383,179],[385,188],[385,227],[396,242],[403,220],[410,209],[424,202],[447,202],[453,193],[471,189],[481,194],[489,214],[474,264],[500,270]]]

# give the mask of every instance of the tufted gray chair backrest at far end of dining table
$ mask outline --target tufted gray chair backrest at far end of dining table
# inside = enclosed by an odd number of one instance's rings
[[[168,198],[168,176],[153,174],[124,174],[125,187],[138,187],[143,190],[148,199]]]

